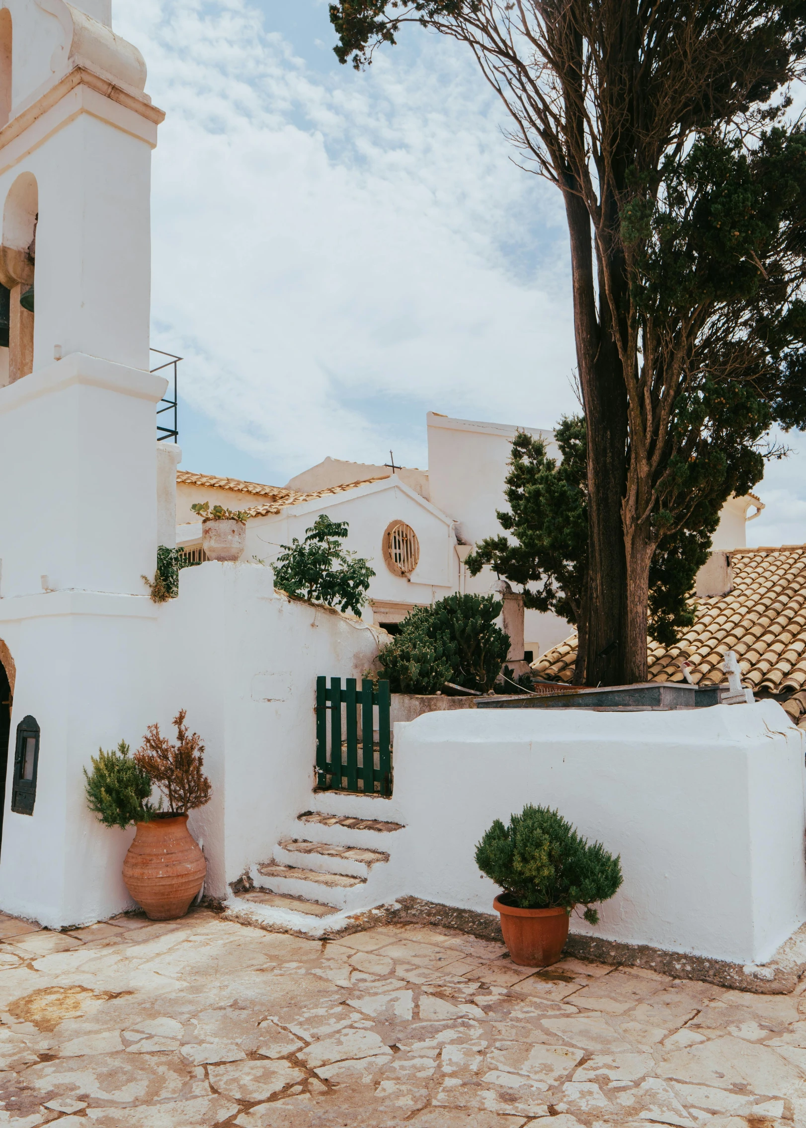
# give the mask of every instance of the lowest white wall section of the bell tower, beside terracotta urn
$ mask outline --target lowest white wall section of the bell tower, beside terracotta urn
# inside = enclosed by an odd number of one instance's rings
[[[121,876],[133,829],[87,809],[82,768],[98,747],[138,747],[154,720],[157,609],[139,596],[50,592],[0,600],[17,667],[0,852],[0,907],[50,927],[131,907]],[[10,810],[17,724],[41,729],[33,816]]]

